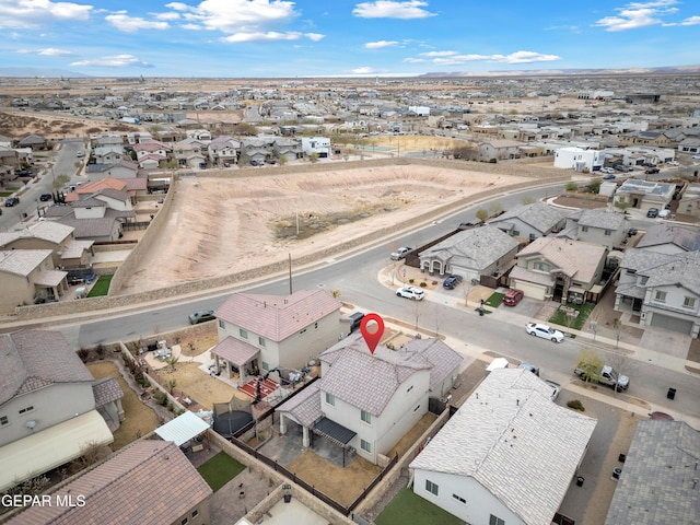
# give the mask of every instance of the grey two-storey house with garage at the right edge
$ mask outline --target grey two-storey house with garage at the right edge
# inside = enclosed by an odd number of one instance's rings
[[[630,248],[620,262],[615,310],[639,313],[641,326],[700,334],[699,252]]]

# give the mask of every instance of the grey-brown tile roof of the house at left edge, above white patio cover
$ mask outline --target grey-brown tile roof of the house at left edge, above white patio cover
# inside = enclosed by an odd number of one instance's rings
[[[0,335],[0,406],[19,394],[55,383],[93,381],[60,331],[20,330]]]

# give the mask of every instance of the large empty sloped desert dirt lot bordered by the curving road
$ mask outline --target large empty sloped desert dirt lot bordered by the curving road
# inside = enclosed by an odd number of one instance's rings
[[[524,177],[397,165],[236,178],[184,177],[166,231],[120,293],[298,258]],[[296,235],[299,219],[300,235]]]

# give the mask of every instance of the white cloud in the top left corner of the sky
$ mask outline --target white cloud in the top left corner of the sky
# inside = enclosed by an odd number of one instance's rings
[[[0,28],[34,30],[51,22],[83,21],[92,5],[49,0],[0,1]]]

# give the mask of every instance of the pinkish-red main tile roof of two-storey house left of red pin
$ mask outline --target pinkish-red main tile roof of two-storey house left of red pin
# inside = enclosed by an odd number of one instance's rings
[[[340,302],[323,290],[300,290],[292,295],[234,293],[217,317],[279,342],[339,310]]]

